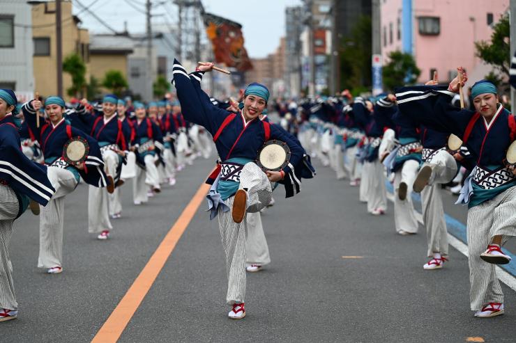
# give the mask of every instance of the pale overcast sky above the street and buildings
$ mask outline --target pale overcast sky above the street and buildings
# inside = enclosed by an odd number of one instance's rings
[[[166,3],[165,3],[166,2]],[[144,33],[145,0],[73,0],[73,13],[78,14],[82,26],[92,33],[109,33],[93,15],[79,5],[89,7],[100,19],[117,31],[123,31],[123,22],[128,22],[130,33]],[[154,14],[165,13],[162,17],[154,17],[153,23],[177,23],[177,6],[172,0],[153,0],[162,3],[152,10]],[[220,15],[243,25],[245,48],[251,57],[265,57],[279,45],[280,37],[285,35],[284,10],[287,6],[301,4],[301,0],[202,0],[206,12]],[[131,6],[132,5],[132,6]]]

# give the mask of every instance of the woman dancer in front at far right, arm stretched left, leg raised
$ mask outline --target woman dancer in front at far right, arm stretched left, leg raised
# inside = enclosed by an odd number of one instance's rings
[[[494,317],[504,312],[494,266],[510,262],[501,246],[516,235],[515,168],[504,163],[506,150],[516,138],[516,119],[499,104],[496,86],[486,80],[471,89],[476,111],[451,106],[451,98],[467,80],[462,67],[457,70],[448,88],[399,88],[397,101],[404,113],[424,125],[458,136],[477,157],[459,198],[469,208],[470,305],[475,317]]]

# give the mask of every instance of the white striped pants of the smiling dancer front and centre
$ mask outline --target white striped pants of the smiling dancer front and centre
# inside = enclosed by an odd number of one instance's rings
[[[247,212],[259,212],[271,202],[271,182],[265,173],[253,162],[245,164],[240,175],[239,189],[248,190]],[[233,208],[234,196],[225,200]],[[248,237],[248,218],[244,216],[241,223],[235,223],[232,211],[223,212],[219,208],[218,225],[222,247],[226,254],[227,296],[229,305],[243,303],[245,299],[245,262]]]

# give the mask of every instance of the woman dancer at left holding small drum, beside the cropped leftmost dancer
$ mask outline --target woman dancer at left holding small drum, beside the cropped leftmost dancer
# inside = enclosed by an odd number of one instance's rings
[[[75,190],[82,179],[96,187],[107,186],[104,161],[97,141],[75,129],[63,117],[65,102],[61,97],[45,99],[45,113],[48,122],[38,127],[36,112],[42,107],[39,100],[27,102],[22,107],[25,120],[38,140],[45,157],[47,177],[56,192],[45,207],[40,207],[40,253],[38,268],[47,273],[63,271],[63,225],[65,197]],[[71,166],[63,160],[63,146],[73,137],[84,138],[89,145],[89,154],[83,163]]]

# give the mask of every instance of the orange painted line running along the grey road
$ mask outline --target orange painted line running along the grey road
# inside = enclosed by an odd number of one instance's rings
[[[142,303],[147,292],[151,289],[161,269],[165,266],[172,250],[174,250],[181,235],[185,232],[188,224],[190,224],[190,221],[195,215],[195,212],[197,212],[197,209],[209,189],[209,184],[202,184],[199,187],[195,196],[193,196],[192,200],[190,200],[185,207],[176,223],[170,228],[165,238],[149,259],[149,262],[147,262],[144,269],[139,273],[135,282],[132,282],[126,295],[123,296],[104,325],[98,330],[95,337],[93,337],[92,343],[114,343],[119,339],[123,330],[138,309],[139,304]]]

